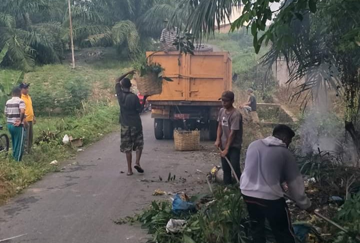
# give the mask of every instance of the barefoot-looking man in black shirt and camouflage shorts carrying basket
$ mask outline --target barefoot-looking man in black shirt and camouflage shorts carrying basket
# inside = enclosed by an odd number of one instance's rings
[[[143,173],[140,157],[143,148],[142,124],[140,118],[141,104],[136,94],[130,91],[131,82],[126,76],[135,71],[129,71],[116,78],[115,90],[120,105],[121,145],[120,150],[126,154],[127,175],[132,175],[132,151],[136,151],[134,168]]]

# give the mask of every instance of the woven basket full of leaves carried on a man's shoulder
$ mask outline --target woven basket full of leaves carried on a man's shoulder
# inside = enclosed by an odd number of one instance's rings
[[[142,95],[159,94],[162,91],[162,78],[159,78],[156,73],[136,75],[135,79],[137,89]]]

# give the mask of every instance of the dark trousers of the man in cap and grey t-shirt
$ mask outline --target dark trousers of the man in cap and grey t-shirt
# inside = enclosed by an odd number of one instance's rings
[[[235,170],[236,176],[240,179],[241,171],[240,171],[240,149],[236,147],[230,147],[226,157],[230,160],[233,169]],[[225,158],[221,157],[221,166],[223,170],[223,181],[224,184],[231,184],[231,168],[228,165]]]

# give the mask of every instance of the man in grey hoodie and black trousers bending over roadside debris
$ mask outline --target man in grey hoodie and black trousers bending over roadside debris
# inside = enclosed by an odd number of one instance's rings
[[[253,242],[266,242],[265,219],[277,243],[295,242],[283,182],[297,206],[312,210],[295,158],[287,149],[294,135],[287,125],[277,125],[272,136],[253,141],[247,148],[240,189],[251,220]]]

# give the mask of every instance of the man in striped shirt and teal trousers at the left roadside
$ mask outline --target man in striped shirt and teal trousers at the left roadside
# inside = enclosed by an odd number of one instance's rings
[[[21,161],[25,141],[25,102],[20,99],[20,87],[14,87],[11,95],[12,98],[5,104],[5,117],[11,134],[12,156],[16,161]]]

